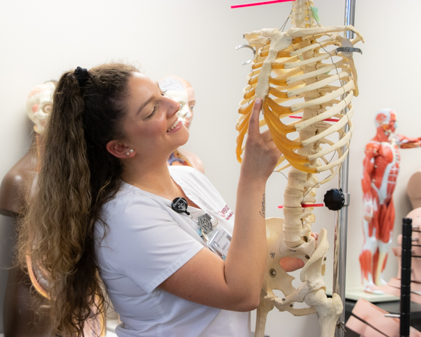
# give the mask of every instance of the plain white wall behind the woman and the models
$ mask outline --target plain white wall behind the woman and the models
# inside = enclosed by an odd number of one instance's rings
[[[230,5],[241,2],[1,1],[0,177],[28,148],[30,125],[25,102],[33,86],[58,79],[61,72],[78,65],[90,68],[111,60],[126,60],[141,65],[152,79],[174,74],[191,81],[198,103],[187,147],[202,158],[209,179],[234,208],[239,175],[235,159],[237,104],[249,71],[241,62],[251,56],[247,49],[236,51],[235,47],[246,42],[242,38],[246,31],[282,26],[291,8],[290,3],[278,3],[230,9]],[[319,8],[321,24],[342,24],[344,1],[315,0],[315,6]],[[415,56],[420,44],[415,40],[418,20],[413,19],[420,11],[421,3],[416,0],[406,1],[405,7],[395,0],[356,3],[356,27],[366,43],[359,46],[364,54],[355,56],[360,96],[354,100],[356,131],[349,170],[348,285],[360,283],[358,255],[363,241],[360,176],[365,143],[375,134],[374,113],[381,107],[395,109],[399,133],[408,136],[421,133],[415,105],[416,80],[420,75]],[[402,150],[402,170],[395,191],[395,236],[400,232],[400,219],[410,210],[406,183],[411,173],[421,168],[420,155],[421,149]],[[280,174],[270,179],[269,217],[282,216],[277,205],[283,203],[285,182]],[[333,186],[332,183],[321,187],[318,201]],[[328,286],[332,279],[333,219],[333,212],[317,210],[315,230],[327,228],[331,242],[328,256],[331,263],[325,278]],[[396,268],[392,257],[386,276],[395,276]],[[3,282],[1,279],[0,283]],[[317,337],[317,317],[293,318],[289,313],[272,312],[267,334]]]

